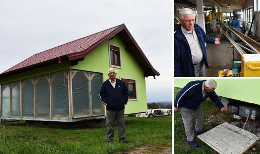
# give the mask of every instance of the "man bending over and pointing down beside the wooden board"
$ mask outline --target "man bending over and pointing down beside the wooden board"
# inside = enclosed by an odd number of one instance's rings
[[[226,110],[214,91],[216,88],[217,83],[215,80],[191,81],[184,86],[176,96],[174,101],[174,111],[177,111],[178,109],[180,110],[185,127],[185,134],[187,136],[187,143],[191,147],[198,147],[197,142],[194,141],[193,134],[203,133],[204,112],[200,106],[201,102],[210,97],[222,112]],[[191,113],[196,116],[195,128],[193,128]]]

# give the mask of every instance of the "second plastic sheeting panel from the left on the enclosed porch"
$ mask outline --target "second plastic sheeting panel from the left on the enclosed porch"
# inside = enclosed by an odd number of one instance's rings
[[[20,82],[12,83],[12,114],[11,117],[20,117]]]

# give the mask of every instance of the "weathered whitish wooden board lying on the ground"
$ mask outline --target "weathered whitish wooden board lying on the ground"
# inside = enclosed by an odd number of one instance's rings
[[[260,139],[253,133],[228,122],[198,135],[198,138],[219,153],[243,153]]]

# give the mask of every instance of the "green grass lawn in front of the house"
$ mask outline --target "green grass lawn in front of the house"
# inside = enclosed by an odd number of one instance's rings
[[[169,117],[125,117],[128,144],[106,143],[106,128],[62,129],[25,126],[24,121],[0,124],[0,153],[111,153],[136,147],[170,146]]]

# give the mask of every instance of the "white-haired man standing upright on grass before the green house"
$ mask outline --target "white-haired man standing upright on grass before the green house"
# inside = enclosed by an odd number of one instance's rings
[[[99,95],[106,105],[106,141],[113,142],[115,121],[118,125],[119,141],[128,143],[124,135],[124,105],[127,104],[128,89],[122,80],[116,79],[116,70],[110,68],[107,72],[109,79],[103,82]]]

